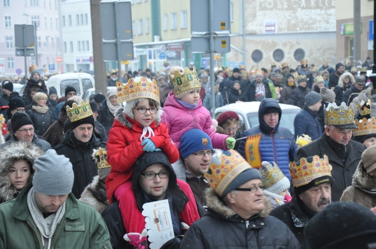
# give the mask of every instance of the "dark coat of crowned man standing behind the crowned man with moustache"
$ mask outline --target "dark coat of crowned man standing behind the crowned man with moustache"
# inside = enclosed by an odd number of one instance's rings
[[[334,183],[331,186],[331,200],[338,201],[343,190],[351,186],[352,175],[361,159],[365,146],[360,142],[351,140],[346,146],[335,142],[325,133],[320,138],[299,148],[295,161],[301,157],[319,155],[323,158],[326,154],[332,165],[331,175]]]

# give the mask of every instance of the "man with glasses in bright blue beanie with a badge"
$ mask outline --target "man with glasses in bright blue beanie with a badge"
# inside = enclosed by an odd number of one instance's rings
[[[185,181],[190,185],[196,201],[202,205],[206,204],[205,190],[209,188],[204,174],[209,170],[214,152],[210,137],[201,129],[190,129],[181,136],[180,155],[185,168]]]

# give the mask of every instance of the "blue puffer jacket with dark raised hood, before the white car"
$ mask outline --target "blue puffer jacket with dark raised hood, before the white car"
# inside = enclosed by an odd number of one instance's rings
[[[274,128],[268,126],[264,121],[264,113],[270,107],[277,108],[280,113],[278,124]],[[297,147],[291,131],[288,128],[279,127],[281,113],[281,107],[276,100],[272,98],[263,99],[259,107],[260,125],[246,130],[242,137],[261,133],[259,144],[261,161],[268,161],[269,163],[275,161],[286,177],[290,179],[289,163],[294,160]],[[245,157],[245,143],[246,139],[242,139],[238,149],[243,157]]]

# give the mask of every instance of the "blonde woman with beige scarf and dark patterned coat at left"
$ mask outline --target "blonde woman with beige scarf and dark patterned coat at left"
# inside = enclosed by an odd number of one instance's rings
[[[47,106],[47,94],[36,92],[33,96],[31,109],[27,111],[33,121],[36,135],[42,136],[54,123],[54,113]]]

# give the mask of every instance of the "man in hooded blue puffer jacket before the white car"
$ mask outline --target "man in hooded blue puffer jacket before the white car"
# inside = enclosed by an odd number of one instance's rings
[[[262,161],[273,165],[274,161],[290,179],[289,162],[294,160],[298,149],[291,131],[279,127],[281,115],[277,100],[263,99],[259,107],[260,124],[244,132],[247,139],[241,140],[238,151],[253,167],[260,167]]]

